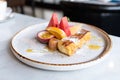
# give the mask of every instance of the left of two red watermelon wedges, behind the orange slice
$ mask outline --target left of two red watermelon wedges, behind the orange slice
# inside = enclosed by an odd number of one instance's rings
[[[54,27],[58,27],[59,26],[58,18],[57,18],[57,14],[56,13],[52,14],[51,20],[50,20],[50,22],[48,24],[48,27],[51,27],[51,26],[54,26]]]

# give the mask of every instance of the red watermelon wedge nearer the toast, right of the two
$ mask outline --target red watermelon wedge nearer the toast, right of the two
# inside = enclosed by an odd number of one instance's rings
[[[70,29],[69,29],[69,25],[68,25],[67,17],[63,17],[61,19],[59,28],[62,29],[66,33],[67,36],[71,35]]]

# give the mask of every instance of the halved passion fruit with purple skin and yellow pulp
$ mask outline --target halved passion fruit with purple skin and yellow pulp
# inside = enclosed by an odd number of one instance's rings
[[[41,42],[41,43],[48,43],[49,40],[51,38],[53,38],[54,35],[52,35],[51,33],[49,33],[48,31],[44,30],[44,31],[40,31],[37,33],[37,39]]]

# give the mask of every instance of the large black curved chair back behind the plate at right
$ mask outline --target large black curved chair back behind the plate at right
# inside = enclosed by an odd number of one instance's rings
[[[120,4],[93,4],[61,1],[64,15],[71,21],[83,22],[120,36]]]

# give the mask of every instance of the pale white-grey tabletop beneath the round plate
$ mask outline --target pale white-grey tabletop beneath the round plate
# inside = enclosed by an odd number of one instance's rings
[[[120,80],[120,37],[110,35],[112,48],[99,64],[76,71],[48,71],[20,62],[9,48],[11,38],[29,25],[46,22],[15,13],[13,19],[0,23],[0,80]]]

